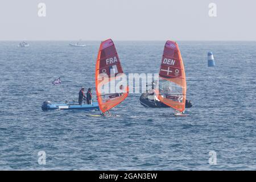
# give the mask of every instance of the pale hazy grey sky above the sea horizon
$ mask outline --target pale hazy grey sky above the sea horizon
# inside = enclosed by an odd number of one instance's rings
[[[255,19],[255,0],[1,0],[0,40],[256,40]]]

